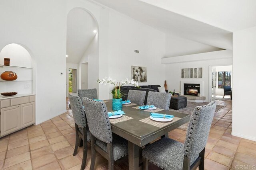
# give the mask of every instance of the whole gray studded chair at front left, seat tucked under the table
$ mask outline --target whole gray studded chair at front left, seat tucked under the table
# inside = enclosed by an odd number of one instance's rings
[[[108,160],[108,169],[114,170],[114,161],[128,155],[128,141],[112,134],[108,110],[104,102],[82,98],[91,136],[92,160],[94,169],[96,151]]]

